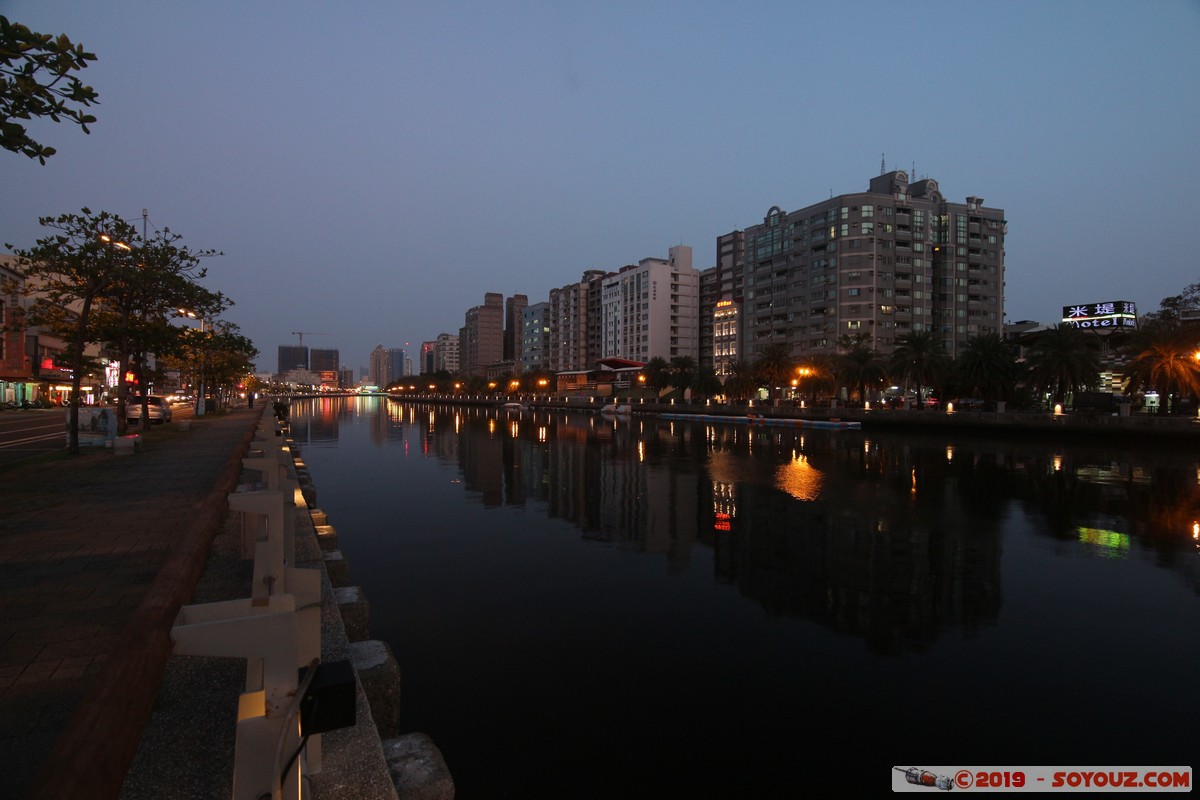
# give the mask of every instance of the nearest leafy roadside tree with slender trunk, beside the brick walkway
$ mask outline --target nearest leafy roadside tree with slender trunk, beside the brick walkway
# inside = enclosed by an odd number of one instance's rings
[[[114,283],[131,279],[134,264],[130,245],[137,231],[120,217],[83,209],[80,213],[41,217],[58,233],[38,239],[29,249],[6,245],[30,291],[37,293],[29,321],[43,325],[68,342],[71,399],[67,450],[79,452],[79,401],[85,372],[84,349],[100,341],[92,306]]]

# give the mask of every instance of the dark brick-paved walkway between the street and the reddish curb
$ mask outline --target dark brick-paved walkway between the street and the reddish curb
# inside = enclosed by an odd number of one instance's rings
[[[29,792],[260,411],[0,470],[0,796]]]

